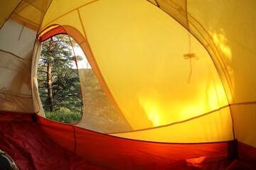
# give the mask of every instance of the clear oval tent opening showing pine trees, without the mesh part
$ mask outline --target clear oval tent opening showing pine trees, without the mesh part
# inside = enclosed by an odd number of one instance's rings
[[[76,123],[82,118],[82,94],[72,44],[68,35],[48,38],[42,42],[38,63],[38,89],[46,118],[63,123]]]

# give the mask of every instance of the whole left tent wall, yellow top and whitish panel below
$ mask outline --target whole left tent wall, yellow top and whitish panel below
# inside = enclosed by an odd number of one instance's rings
[[[31,65],[38,28],[50,1],[1,1],[0,108],[34,113]]]

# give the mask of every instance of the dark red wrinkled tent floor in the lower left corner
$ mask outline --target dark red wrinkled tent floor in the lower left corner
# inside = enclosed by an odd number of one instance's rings
[[[0,149],[21,170],[100,169],[50,140],[38,123],[0,123]]]

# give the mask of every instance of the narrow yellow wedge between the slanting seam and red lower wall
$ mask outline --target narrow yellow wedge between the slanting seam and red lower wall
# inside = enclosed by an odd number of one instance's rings
[[[137,140],[174,143],[228,141],[233,139],[232,120],[230,120],[230,114],[225,111],[228,109],[228,107],[223,108],[220,111],[160,128],[113,135]],[[216,122],[218,122],[218,126],[214,125]],[[202,126],[203,128],[201,128]]]

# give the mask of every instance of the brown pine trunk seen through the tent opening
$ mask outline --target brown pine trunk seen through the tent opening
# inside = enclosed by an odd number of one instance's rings
[[[52,64],[51,62],[53,61],[53,56],[51,56],[52,51],[54,50],[53,47],[53,38],[50,38],[50,56],[48,59],[48,64],[47,64],[47,82],[48,82],[48,98],[50,101],[50,113],[53,112],[53,89],[52,89],[52,75],[51,75],[51,69],[52,69]]]

